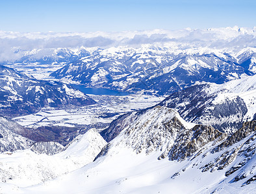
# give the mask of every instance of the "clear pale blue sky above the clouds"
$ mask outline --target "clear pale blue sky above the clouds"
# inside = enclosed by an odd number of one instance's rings
[[[1,0],[0,30],[94,32],[256,26],[255,0]]]

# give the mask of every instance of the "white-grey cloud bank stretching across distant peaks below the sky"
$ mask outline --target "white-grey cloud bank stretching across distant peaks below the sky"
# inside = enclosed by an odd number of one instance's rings
[[[141,47],[145,44],[173,49],[209,47],[236,52],[241,48],[255,47],[255,37],[256,27],[83,33],[0,31],[0,61],[15,61],[33,50],[39,57],[51,55],[55,48]]]

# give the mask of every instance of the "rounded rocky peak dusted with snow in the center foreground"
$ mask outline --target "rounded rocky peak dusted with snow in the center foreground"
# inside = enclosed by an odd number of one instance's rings
[[[143,151],[147,154],[156,150],[169,150],[170,142],[175,140],[179,131],[194,126],[183,120],[173,109],[160,106],[132,113],[122,123],[125,125],[113,142],[131,147],[136,153]],[[116,147],[114,143],[108,144],[99,156],[106,155],[110,145]]]

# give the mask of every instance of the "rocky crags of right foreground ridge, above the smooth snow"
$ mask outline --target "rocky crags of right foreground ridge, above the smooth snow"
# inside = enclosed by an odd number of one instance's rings
[[[255,121],[246,122],[227,135],[209,125],[189,124],[166,107],[147,109],[125,125],[125,120],[131,120],[127,119],[129,116],[122,120],[120,134],[103,147],[95,160],[132,149],[137,154],[158,153],[159,160],[167,157],[183,162],[181,170],[171,175],[172,179],[196,167],[202,173],[221,171],[230,184],[239,182],[245,186],[255,180]]]

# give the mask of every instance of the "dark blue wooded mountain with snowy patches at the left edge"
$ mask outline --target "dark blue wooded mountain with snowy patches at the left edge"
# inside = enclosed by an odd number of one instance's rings
[[[81,106],[94,100],[70,86],[56,81],[40,81],[14,69],[0,66],[0,114],[19,116],[44,107]]]

